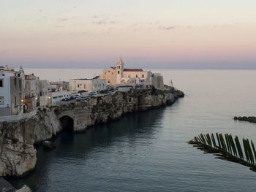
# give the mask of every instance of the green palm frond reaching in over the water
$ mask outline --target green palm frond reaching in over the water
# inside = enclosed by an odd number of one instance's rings
[[[244,166],[249,166],[256,172],[255,145],[249,139],[243,139],[241,146],[238,137],[231,134],[200,134],[188,143],[206,153],[214,153],[217,158],[233,161]],[[244,158],[245,156],[245,158]]]

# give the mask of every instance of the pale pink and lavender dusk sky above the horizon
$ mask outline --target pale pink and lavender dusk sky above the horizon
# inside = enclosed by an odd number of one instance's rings
[[[256,69],[255,0],[0,0],[0,66]]]

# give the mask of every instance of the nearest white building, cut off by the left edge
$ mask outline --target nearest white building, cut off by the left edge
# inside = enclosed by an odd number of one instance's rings
[[[0,66],[0,116],[23,113],[22,72]]]

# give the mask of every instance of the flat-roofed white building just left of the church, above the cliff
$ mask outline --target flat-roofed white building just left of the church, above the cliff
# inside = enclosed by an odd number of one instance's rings
[[[69,80],[70,91],[100,91],[106,89],[105,79],[95,77],[93,79],[72,79]]]

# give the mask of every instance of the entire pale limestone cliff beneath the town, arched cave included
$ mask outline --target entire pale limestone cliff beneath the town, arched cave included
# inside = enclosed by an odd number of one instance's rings
[[[0,176],[23,176],[37,163],[34,144],[50,139],[63,128],[86,131],[96,123],[114,120],[127,112],[173,104],[182,91],[143,90],[64,101],[37,110],[32,118],[0,122]]]

